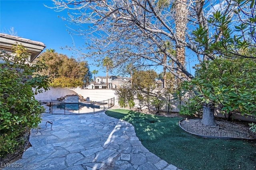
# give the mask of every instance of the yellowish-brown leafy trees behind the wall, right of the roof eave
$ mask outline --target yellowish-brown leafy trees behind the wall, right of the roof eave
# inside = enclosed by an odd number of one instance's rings
[[[48,69],[40,72],[52,78],[53,87],[76,87],[88,84],[92,75],[87,62],[78,62],[74,58],[55,53],[50,49],[38,58],[48,65]],[[63,83],[63,84],[61,84]]]

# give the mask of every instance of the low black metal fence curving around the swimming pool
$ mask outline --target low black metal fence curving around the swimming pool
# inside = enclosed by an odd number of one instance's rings
[[[46,108],[46,113],[50,114],[86,114],[105,111],[114,106],[115,98],[102,100],[99,102],[41,102]]]

